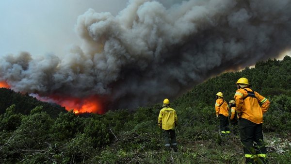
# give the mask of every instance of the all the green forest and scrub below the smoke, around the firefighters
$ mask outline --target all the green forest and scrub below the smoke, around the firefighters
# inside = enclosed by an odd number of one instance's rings
[[[227,137],[219,134],[214,107],[217,92],[223,92],[226,101],[233,99],[235,82],[241,77],[271,102],[263,123],[269,163],[290,163],[290,56],[222,73],[170,99],[178,115],[178,153],[163,148],[157,122],[162,102],[133,111],[118,109],[82,116],[28,94],[0,88],[0,163],[244,163],[239,134],[233,129]]]

